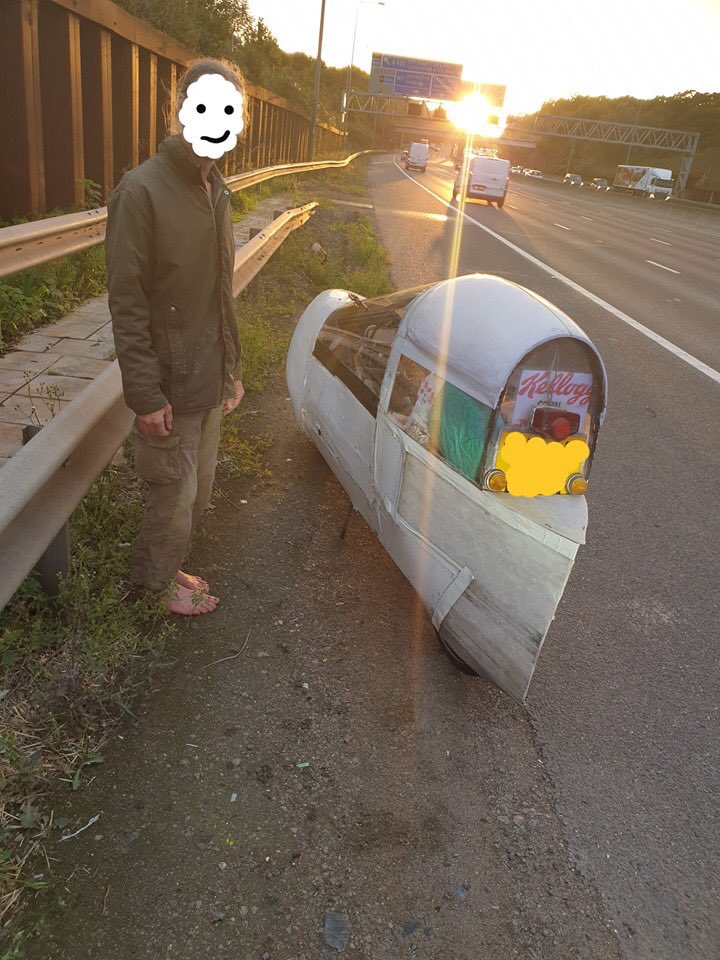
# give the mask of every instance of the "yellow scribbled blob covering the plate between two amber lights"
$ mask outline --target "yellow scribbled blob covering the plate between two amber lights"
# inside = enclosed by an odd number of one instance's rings
[[[565,490],[568,476],[579,473],[589,456],[584,440],[548,443],[514,432],[505,435],[496,466],[504,471],[507,491],[514,497],[549,497]]]

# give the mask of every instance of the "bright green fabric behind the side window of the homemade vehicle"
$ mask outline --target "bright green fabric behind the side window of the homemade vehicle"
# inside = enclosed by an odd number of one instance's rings
[[[477,472],[485,453],[485,440],[492,411],[446,383],[430,411],[432,442],[440,456],[469,480]]]

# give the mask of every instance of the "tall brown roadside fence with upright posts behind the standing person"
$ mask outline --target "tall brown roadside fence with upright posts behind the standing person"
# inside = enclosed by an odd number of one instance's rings
[[[0,219],[82,205],[86,180],[106,199],[166,136],[165,107],[195,56],[111,0],[0,0]],[[223,172],[307,159],[309,118],[261,87],[248,98]],[[318,124],[317,157],[343,148],[339,130]]]

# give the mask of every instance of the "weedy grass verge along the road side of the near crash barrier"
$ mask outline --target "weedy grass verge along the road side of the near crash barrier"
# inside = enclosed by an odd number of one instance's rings
[[[364,170],[334,171],[332,186],[320,178],[296,185],[297,202],[330,197],[342,176],[364,182]],[[324,257],[311,252],[315,242]],[[370,220],[323,204],[238,298],[248,400],[284,359],[309,301],[334,286],[385,293],[389,266]],[[221,490],[237,478],[266,476],[271,442],[269,435],[248,435],[241,415],[226,418]],[[29,892],[51,882],[49,834],[80,826],[55,818],[53,796],[81,789],[102,763],[109,729],[146,689],[173,631],[127,586],[140,517],[141,489],[131,467],[108,467],[73,517],[72,572],[60,596],[49,600],[29,578],[0,614],[0,960],[22,956],[20,908]]]

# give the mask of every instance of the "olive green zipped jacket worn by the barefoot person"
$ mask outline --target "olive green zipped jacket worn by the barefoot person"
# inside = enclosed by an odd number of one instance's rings
[[[230,192],[215,166],[208,179],[212,202],[189,147],[168,137],[108,201],[110,313],[136,414],[211,409],[242,376]]]

